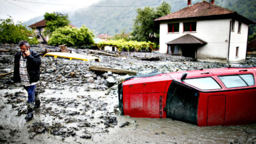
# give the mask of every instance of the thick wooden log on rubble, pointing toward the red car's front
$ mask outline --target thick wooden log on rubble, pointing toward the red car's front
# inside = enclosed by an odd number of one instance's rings
[[[97,66],[97,65],[90,66],[89,70],[93,71],[93,72],[108,72],[108,71],[110,71],[114,74],[120,74],[120,75],[126,75],[126,74],[136,75],[137,74],[136,71],[132,71],[132,70],[113,69],[110,67],[102,67],[102,66]]]

